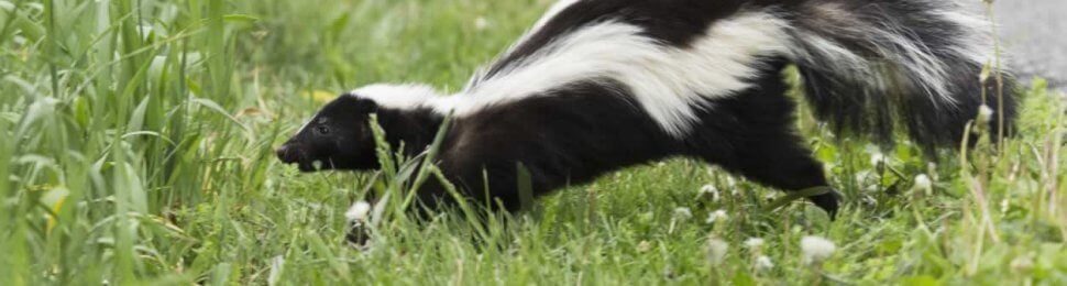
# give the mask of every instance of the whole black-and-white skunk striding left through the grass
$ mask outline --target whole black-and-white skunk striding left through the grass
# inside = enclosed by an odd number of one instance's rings
[[[890,143],[902,124],[933,152],[958,145],[987,102],[1002,112],[990,123],[1011,127],[1008,75],[980,79],[989,30],[946,0],[562,0],[459,94],[356,89],[277,156],[305,172],[373,169],[370,114],[413,156],[454,114],[438,166],[506,210],[520,206],[518,164],[535,196],[674,156],[785,191],[823,187],[783,68],[798,67],[815,116],[839,134]],[[439,183],[418,197],[449,199]],[[836,193],[810,199],[838,209]]]

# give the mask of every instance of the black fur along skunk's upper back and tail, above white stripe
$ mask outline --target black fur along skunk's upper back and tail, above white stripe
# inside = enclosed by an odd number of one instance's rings
[[[617,0],[617,1],[580,1],[561,11],[552,21],[538,30],[537,33],[506,54],[502,61],[494,64],[486,75],[475,79],[477,82],[496,76],[502,70],[514,68],[522,59],[532,56],[560,36],[582,26],[604,22],[617,21],[641,26],[647,36],[662,41],[664,44],[684,47],[695,37],[701,36],[708,24],[732,15],[741,9],[774,8],[778,14],[790,20],[799,30],[814,32],[835,43],[839,43],[851,51],[857,51],[871,57],[879,57],[878,48],[902,48],[899,38],[872,37],[864,31],[851,29],[854,25],[843,19],[820,15],[811,7],[818,4],[834,4],[839,9],[854,13],[854,16],[867,22],[900,25],[909,29],[906,40],[920,43],[938,58],[949,62],[953,67],[949,81],[949,94],[955,105],[932,100],[927,95],[919,95],[923,90],[902,88],[900,90],[877,90],[870,82],[856,82],[839,74],[823,70],[822,66],[801,65],[804,76],[807,98],[815,109],[820,120],[829,122],[840,134],[871,135],[883,145],[892,145],[895,125],[903,119],[903,125],[909,135],[924,147],[927,154],[933,154],[937,146],[958,144],[964,138],[964,129],[969,121],[977,117],[978,107],[987,105],[1003,110],[1003,127],[1011,133],[1015,118],[1016,102],[1011,94],[1014,79],[1011,75],[1001,74],[1008,96],[998,98],[1001,92],[997,87],[997,73],[991,79],[979,82],[978,75],[982,66],[969,63],[952,51],[953,41],[974,31],[965,26],[946,21],[933,14],[933,11],[959,10],[952,1],[932,0]],[[891,61],[891,59],[886,59]],[[901,68],[887,64],[888,69]],[[892,85],[915,85],[919,78],[888,78]],[[979,96],[986,89],[988,97],[982,102]],[[1000,119],[1001,117],[996,117]],[[993,121],[993,130],[1000,128],[1001,122]]]

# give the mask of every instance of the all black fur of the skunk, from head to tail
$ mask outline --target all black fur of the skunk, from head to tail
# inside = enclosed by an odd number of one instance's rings
[[[897,90],[878,90],[869,82],[843,77],[828,65],[795,63],[784,56],[768,56],[755,64],[760,69],[750,80],[752,88],[725,98],[701,102],[698,122],[690,134],[678,139],[668,134],[646,113],[626,82],[590,78],[581,84],[551,89],[543,95],[516,102],[487,107],[458,118],[447,131],[438,165],[451,183],[470,198],[507,210],[520,207],[517,165],[528,168],[535,195],[548,194],[566,185],[587,183],[605,173],[672,156],[686,156],[717,164],[755,182],[787,191],[825,187],[822,165],[814,160],[793,127],[795,103],[785,97],[781,73],[796,64],[804,77],[806,99],[815,114],[842,133],[872,134],[892,142],[894,127],[903,122],[909,134],[931,154],[936,146],[956,146],[965,138],[964,127],[982,105],[979,96],[987,89],[990,106],[1002,101],[1005,125],[1011,127],[1015,101],[1011,79],[1007,78],[1003,98],[992,84],[979,82],[981,67],[950,51],[952,38],[970,33],[927,11],[949,9],[939,0],[616,0],[580,1],[548,21],[527,41],[505,54],[480,81],[504,76],[521,68],[525,59],[538,56],[550,43],[571,31],[604,21],[641,26],[646,36],[662,45],[685,48],[703,35],[710,24],[745,9],[771,9],[796,28],[840,43],[865,57],[884,64],[889,70],[904,68],[892,58],[880,58],[880,51],[900,38],[869,38],[851,34],[843,24],[811,10],[811,4],[837,3],[843,11],[872,23],[892,22],[910,29],[903,41],[914,41],[934,51],[950,67],[948,86],[956,102],[917,94],[919,79],[909,73],[891,73]],[[834,31],[840,30],[839,33]],[[872,42],[873,41],[873,42]],[[878,41],[883,41],[879,43]],[[816,58],[817,59],[817,58]],[[836,72],[836,73],[835,73]],[[906,70],[904,70],[906,72]],[[996,76],[996,74],[994,74]],[[1004,75],[1007,76],[1007,75]],[[481,79],[481,80],[479,80]],[[431,110],[380,108],[359,95],[344,96],[328,105],[311,124],[278,150],[286,163],[298,163],[315,170],[316,160],[323,168],[370,169],[377,167],[374,141],[366,127],[370,113],[377,113],[391,144],[404,142],[408,155],[416,155],[430,143],[442,117]],[[711,97],[710,97],[711,98]],[[323,135],[315,132],[318,119],[344,132]],[[999,118],[999,117],[998,117]],[[337,123],[344,120],[343,124]],[[1000,122],[993,121],[997,125]],[[336,125],[330,125],[336,124]],[[994,129],[996,130],[996,129]],[[485,182],[488,178],[488,182]],[[484,189],[483,186],[488,186]],[[483,194],[487,194],[486,197]],[[420,201],[431,208],[449,201],[437,182],[426,184]],[[811,198],[832,216],[838,210],[836,193]]]

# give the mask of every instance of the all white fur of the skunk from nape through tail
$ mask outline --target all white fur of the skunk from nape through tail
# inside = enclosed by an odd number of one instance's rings
[[[575,2],[557,2],[531,33]],[[794,28],[772,9],[741,11],[714,22],[688,47],[660,43],[644,35],[637,25],[606,21],[559,35],[535,54],[509,63],[488,78],[476,78],[472,81],[476,85],[451,97],[439,97],[432,88],[416,85],[375,85],[353,94],[386,108],[429,108],[465,117],[485,108],[549,96],[549,91],[578,82],[612,80],[625,85],[664,131],[683,138],[696,120],[695,109],[708,108],[701,102],[750,88],[747,79],[757,76],[760,57],[781,55],[873,89],[857,92],[905,85],[925,91],[937,102],[955,102],[952,82],[947,81],[949,63],[912,38],[912,31],[902,23],[893,19],[870,23],[833,4],[810,9],[814,15],[799,21],[807,21],[814,29]],[[933,11],[928,16],[976,30],[985,22],[956,12]],[[983,33],[972,34],[977,35],[958,40],[952,52],[960,59],[985,61]],[[836,35],[842,38],[835,40]],[[859,54],[837,41],[870,44],[878,55]],[[887,81],[893,78],[905,82]]]

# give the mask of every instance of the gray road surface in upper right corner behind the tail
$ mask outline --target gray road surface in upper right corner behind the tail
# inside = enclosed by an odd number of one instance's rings
[[[998,0],[994,16],[1009,66],[1023,80],[1067,89],[1067,0]]]

